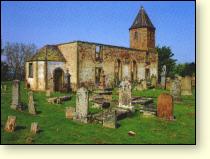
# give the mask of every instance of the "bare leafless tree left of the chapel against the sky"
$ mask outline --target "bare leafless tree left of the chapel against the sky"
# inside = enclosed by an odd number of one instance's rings
[[[6,43],[4,53],[7,56],[7,63],[12,71],[13,79],[24,78],[25,62],[36,52],[34,44]]]

